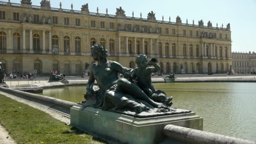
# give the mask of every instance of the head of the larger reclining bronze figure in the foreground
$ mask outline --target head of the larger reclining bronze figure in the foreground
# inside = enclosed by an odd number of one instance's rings
[[[98,61],[99,58],[107,58],[107,49],[102,45],[93,45],[91,47],[91,55],[95,61]]]

